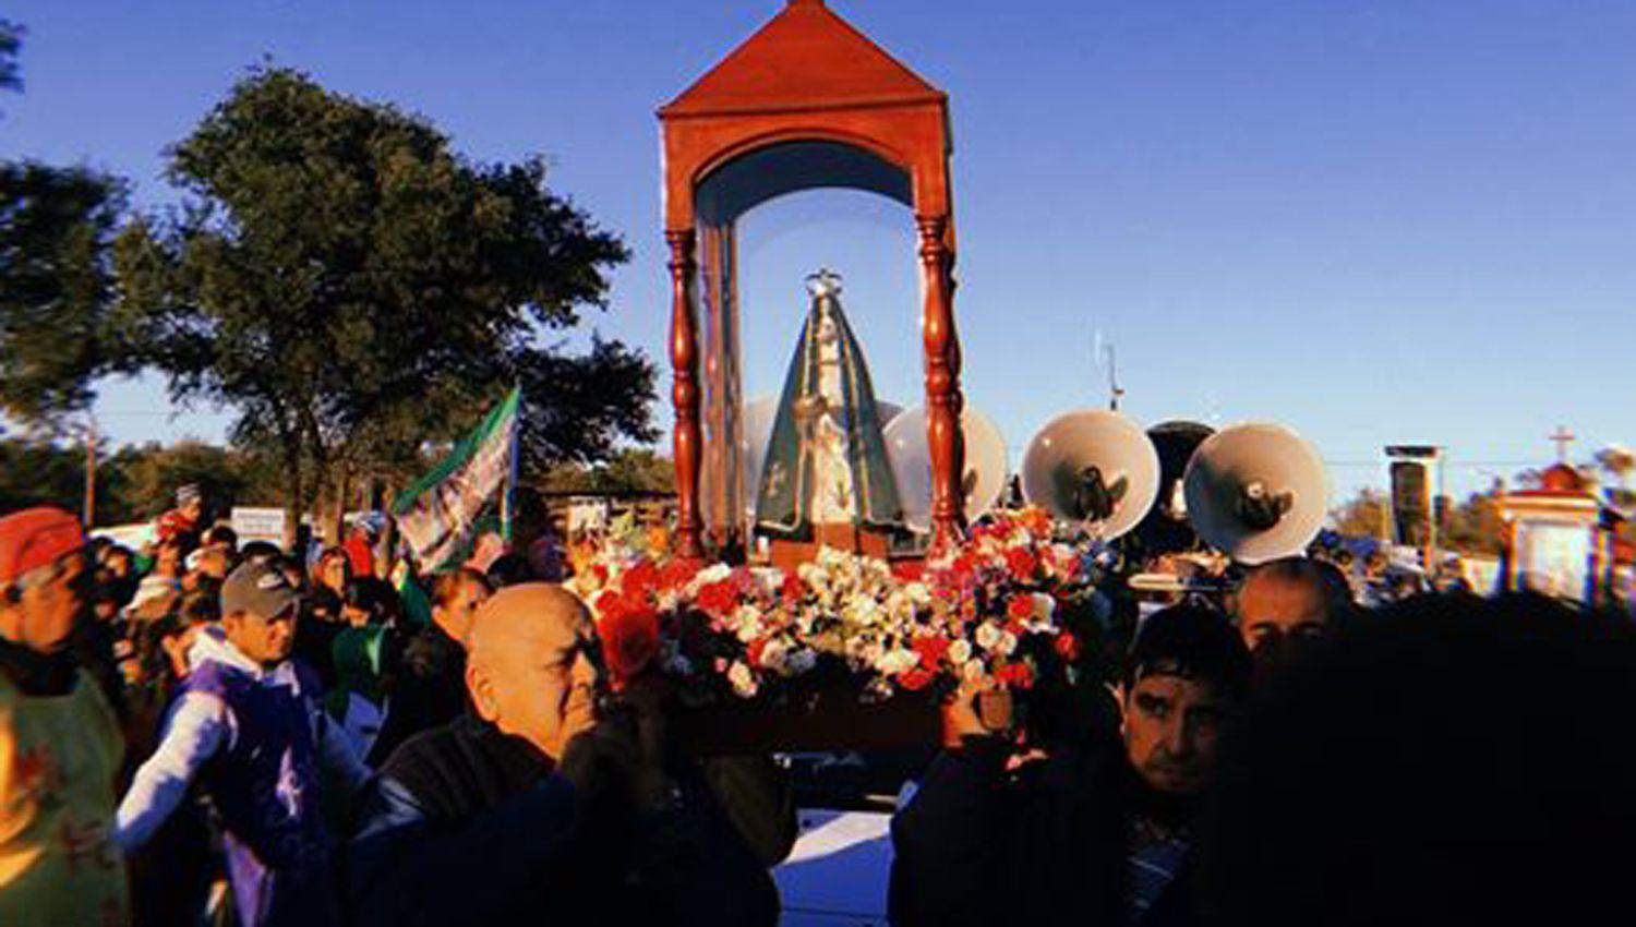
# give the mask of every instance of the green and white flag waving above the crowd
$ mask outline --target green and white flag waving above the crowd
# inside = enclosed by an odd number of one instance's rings
[[[455,445],[432,472],[398,497],[398,533],[422,571],[437,571],[470,548],[489,500],[499,495],[502,533],[510,536],[510,492],[517,482],[517,405],[512,389]]]

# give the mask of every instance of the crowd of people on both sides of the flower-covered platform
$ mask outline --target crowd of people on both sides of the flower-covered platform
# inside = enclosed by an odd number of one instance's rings
[[[378,526],[290,556],[185,489],[157,528],[131,551],[57,508],[0,518],[0,924],[777,922],[784,770],[689,755],[663,677],[614,690],[553,582],[573,549],[422,602],[383,579]],[[1636,628],[1526,595],[1382,603],[1348,566],[1148,608],[1049,732],[964,683],[892,822],[892,920],[1618,901]]]

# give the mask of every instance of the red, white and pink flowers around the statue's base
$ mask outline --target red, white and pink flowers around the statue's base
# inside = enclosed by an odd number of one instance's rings
[[[591,607],[615,685],[658,667],[690,701],[756,698],[849,678],[864,700],[962,680],[1031,688],[1078,659],[1060,621],[1098,566],[1037,508],[991,513],[913,566],[820,549],[795,572],[669,558],[615,536],[573,589]]]

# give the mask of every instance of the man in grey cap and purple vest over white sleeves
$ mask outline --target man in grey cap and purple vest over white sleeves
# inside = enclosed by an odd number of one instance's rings
[[[221,623],[188,652],[190,674],[154,755],[119,804],[115,839],[141,847],[200,780],[221,814],[245,927],[337,924],[326,785],[368,770],[319,706],[319,683],[290,659],[301,597],[276,562],[247,562],[221,587]]]

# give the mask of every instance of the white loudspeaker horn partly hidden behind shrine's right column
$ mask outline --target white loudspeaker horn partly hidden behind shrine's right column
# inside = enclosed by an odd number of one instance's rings
[[[977,518],[1006,490],[1006,440],[995,420],[967,405],[960,412],[965,435],[965,517]],[[921,535],[931,531],[931,448],[926,445],[926,407],[911,405],[887,425],[887,456],[898,482],[903,522]]]

